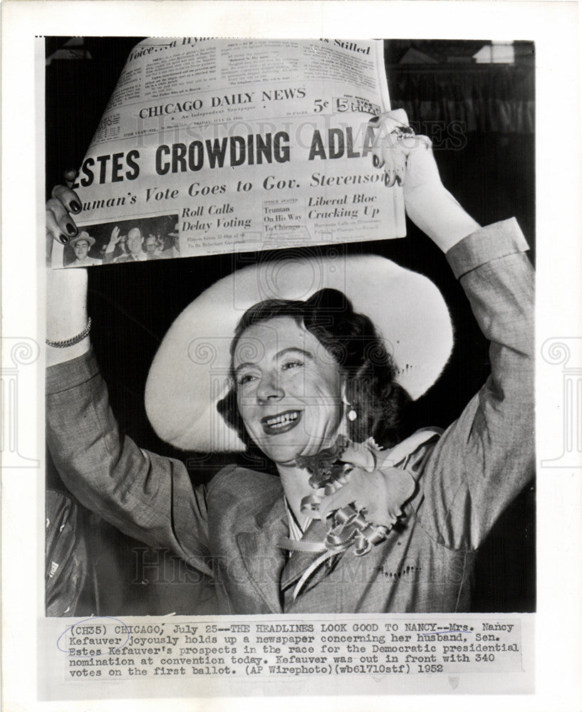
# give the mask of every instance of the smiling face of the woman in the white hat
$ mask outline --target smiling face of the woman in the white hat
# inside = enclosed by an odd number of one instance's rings
[[[290,317],[255,324],[234,352],[237,402],[246,430],[277,464],[336,439],[342,378],[336,360]]]

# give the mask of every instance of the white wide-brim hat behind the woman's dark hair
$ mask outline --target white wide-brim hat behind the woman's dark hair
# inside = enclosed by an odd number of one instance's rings
[[[234,329],[252,305],[270,298],[306,300],[341,290],[365,313],[392,355],[397,382],[412,399],[437,380],[452,350],[449,312],[425,276],[378,256],[285,258],[245,267],[214,283],[175,320],[145,387],[147,417],[163,440],[183,450],[244,450],[217,411],[231,386]]]

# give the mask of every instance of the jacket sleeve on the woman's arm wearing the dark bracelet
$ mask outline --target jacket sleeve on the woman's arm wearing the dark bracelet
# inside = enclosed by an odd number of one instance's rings
[[[47,369],[46,430],[78,501],[123,533],[212,574],[205,488],[192,487],[182,462],[120,436],[92,352]]]

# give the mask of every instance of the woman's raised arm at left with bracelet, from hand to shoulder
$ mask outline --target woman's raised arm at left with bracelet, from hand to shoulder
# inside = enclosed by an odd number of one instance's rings
[[[63,246],[77,228],[80,201],[53,189],[46,205],[46,439],[59,475],[85,507],[124,533],[164,547],[204,574],[206,495],[192,488],[182,462],[140,449],[120,434],[108,390],[90,352],[87,270],[63,266]],[[63,342],[73,341],[72,345]]]

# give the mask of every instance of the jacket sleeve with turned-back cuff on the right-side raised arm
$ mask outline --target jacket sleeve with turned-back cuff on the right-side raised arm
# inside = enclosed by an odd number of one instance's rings
[[[427,455],[417,516],[438,543],[474,550],[534,473],[534,272],[514,219],[447,253],[489,340],[491,375]]]

